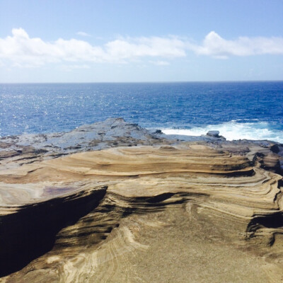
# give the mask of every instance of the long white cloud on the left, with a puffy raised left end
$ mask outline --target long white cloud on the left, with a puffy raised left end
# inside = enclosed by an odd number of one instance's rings
[[[29,37],[23,28],[14,28],[12,36],[0,38],[0,59],[21,67],[56,62],[125,63],[141,57],[185,57],[185,44],[175,37],[128,37],[102,46],[62,38],[45,42],[38,37]]]

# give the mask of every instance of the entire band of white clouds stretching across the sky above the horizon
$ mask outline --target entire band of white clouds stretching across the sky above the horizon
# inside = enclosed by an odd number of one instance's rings
[[[283,37],[238,37],[226,40],[212,31],[202,44],[171,35],[168,37],[120,37],[104,45],[91,45],[86,40],[59,38],[47,42],[40,37],[29,37],[23,28],[13,28],[12,35],[0,38],[0,66],[41,67],[50,63],[127,64],[150,59],[156,65],[167,65],[168,60],[186,57],[188,52],[201,56],[227,59],[231,56],[283,54]],[[76,63],[76,64],[75,64]]]

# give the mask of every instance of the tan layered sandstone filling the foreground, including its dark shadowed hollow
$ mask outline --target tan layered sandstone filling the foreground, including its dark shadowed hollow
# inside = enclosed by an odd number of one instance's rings
[[[0,282],[282,282],[282,176],[252,146],[225,146],[116,147],[1,170]]]

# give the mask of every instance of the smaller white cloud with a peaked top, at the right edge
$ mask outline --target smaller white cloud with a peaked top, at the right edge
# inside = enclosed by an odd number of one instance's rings
[[[225,59],[229,56],[250,56],[260,54],[283,54],[282,37],[238,37],[225,40],[214,31],[210,32],[202,45],[189,44],[196,54]]]

